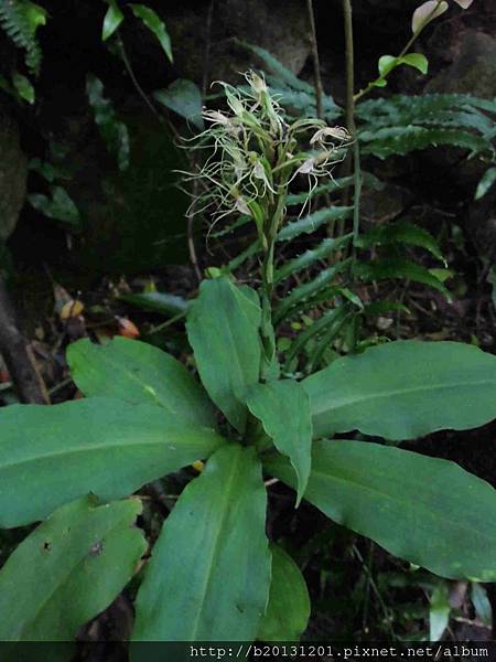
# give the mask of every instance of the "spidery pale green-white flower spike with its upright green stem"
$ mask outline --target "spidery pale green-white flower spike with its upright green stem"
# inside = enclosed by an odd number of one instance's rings
[[[213,226],[233,214],[255,222],[263,252],[262,339],[270,364],[274,356],[270,319],[273,250],[285,217],[289,186],[298,175],[306,177],[310,197],[319,179],[331,177],[333,167],[344,159],[352,136],[316,118],[289,124],[265,78],[255,72],[245,77],[248,85],[244,87],[219,83],[228,110],[203,111],[209,127],[197,136],[196,149],[211,148],[212,153],[198,172],[187,173],[187,181],[202,182],[204,193],[193,200],[192,210],[209,210]],[[305,141],[309,149],[302,150]]]

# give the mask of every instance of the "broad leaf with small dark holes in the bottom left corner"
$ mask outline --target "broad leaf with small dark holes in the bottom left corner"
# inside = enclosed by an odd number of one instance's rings
[[[66,504],[37,526],[0,570],[0,639],[69,641],[106,609],[147,549],[138,499]]]

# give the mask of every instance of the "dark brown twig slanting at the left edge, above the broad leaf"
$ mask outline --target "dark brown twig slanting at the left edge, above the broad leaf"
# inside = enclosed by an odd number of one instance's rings
[[[0,353],[22,403],[50,404],[32,350],[15,321],[15,313],[6,284],[0,276]]]

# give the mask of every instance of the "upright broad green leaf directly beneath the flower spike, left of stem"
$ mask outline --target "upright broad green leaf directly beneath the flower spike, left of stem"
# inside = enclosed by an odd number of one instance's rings
[[[259,377],[260,318],[255,299],[224,277],[202,282],[187,316],[187,338],[202,382],[240,433],[247,416],[246,392]]]

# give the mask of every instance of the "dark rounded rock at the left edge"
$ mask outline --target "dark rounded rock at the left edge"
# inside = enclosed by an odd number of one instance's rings
[[[24,204],[28,162],[19,141],[19,127],[12,116],[0,108],[0,243],[18,222]]]

